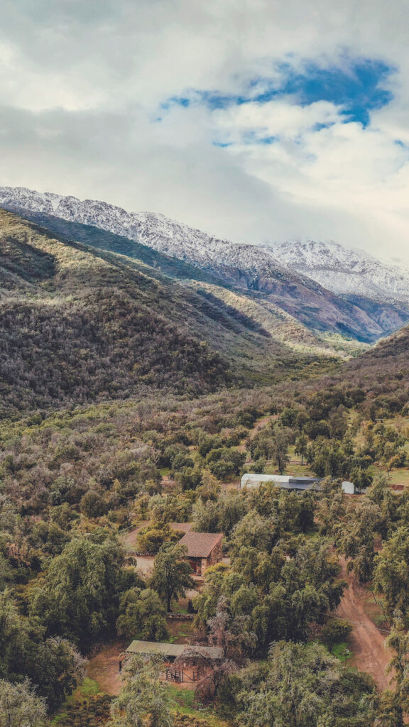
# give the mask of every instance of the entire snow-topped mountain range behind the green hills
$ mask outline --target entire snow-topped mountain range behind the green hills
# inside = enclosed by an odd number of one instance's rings
[[[0,205],[67,240],[140,260],[156,251],[162,257],[149,265],[191,286],[202,281],[202,296],[214,294],[204,284],[218,284],[225,299],[245,294],[259,317],[281,310],[314,335],[373,342],[409,320],[409,273],[336,244],[235,244],[161,214],[24,188],[0,188]]]

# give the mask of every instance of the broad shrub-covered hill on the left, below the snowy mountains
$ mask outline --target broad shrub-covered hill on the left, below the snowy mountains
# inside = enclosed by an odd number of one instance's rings
[[[330,353],[274,306],[261,315],[227,288],[182,285],[4,211],[0,252],[3,414],[152,388],[206,393]]]

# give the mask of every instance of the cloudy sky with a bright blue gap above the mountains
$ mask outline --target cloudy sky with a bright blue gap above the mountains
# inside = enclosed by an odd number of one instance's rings
[[[0,185],[409,255],[407,0],[1,0]]]

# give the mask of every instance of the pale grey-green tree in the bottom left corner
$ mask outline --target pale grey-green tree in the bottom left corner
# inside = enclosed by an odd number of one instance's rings
[[[1,727],[45,727],[47,710],[28,680],[12,684],[0,680]]]

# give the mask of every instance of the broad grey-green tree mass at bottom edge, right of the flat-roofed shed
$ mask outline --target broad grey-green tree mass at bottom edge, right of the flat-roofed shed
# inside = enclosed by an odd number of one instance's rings
[[[231,699],[246,727],[363,727],[373,723],[376,689],[317,643],[279,642],[268,664],[234,675]]]

